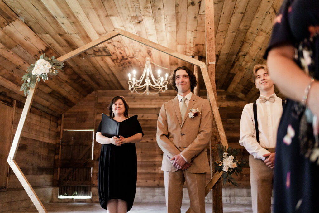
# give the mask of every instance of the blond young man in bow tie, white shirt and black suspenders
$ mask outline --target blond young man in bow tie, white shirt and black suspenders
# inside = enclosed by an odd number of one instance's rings
[[[253,80],[260,97],[255,103],[246,104],[242,111],[239,143],[250,154],[253,212],[270,213],[276,136],[283,104],[274,92],[266,65],[255,65]]]

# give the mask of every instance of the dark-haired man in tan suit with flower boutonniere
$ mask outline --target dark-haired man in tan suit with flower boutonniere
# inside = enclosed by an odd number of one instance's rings
[[[178,94],[162,105],[156,133],[157,143],[164,152],[162,170],[167,212],[181,212],[185,181],[191,212],[205,212],[205,178],[210,171],[206,152],[211,138],[210,103],[192,93],[197,81],[186,66],[174,70],[171,84]]]

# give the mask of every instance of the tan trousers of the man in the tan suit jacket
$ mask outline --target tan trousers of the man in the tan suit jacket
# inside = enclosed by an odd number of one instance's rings
[[[187,170],[164,171],[167,212],[181,212],[183,185],[186,181],[191,212],[205,213],[205,179],[206,173],[194,174]]]

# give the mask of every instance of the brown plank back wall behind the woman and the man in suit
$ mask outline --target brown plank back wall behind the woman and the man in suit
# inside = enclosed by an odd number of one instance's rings
[[[64,113],[64,129],[96,129],[101,120],[101,113],[108,114],[108,104],[116,95],[122,95],[127,100],[130,110],[129,116],[138,115],[144,137],[136,143],[137,151],[137,186],[138,187],[164,187],[161,162],[163,152],[156,143],[156,125],[160,107],[164,102],[174,98],[176,93],[168,90],[158,95],[138,95],[123,90],[99,90],[86,96],[74,107]],[[225,128],[229,146],[240,148],[238,157],[248,159],[248,153],[238,143],[241,111],[245,104],[234,95],[219,90],[219,112]],[[205,91],[201,96],[207,98]],[[95,120],[95,122],[94,122]],[[93,187],[97,187],[98,159],[101,145],[95,141],[93,154]],[[207,180],[210,174],[207,174]],[[249,185],[249,168],[243,168],[241,176],[235,176],[239,187],[247,188]],[[233,187],[226,185],[226,187]]]

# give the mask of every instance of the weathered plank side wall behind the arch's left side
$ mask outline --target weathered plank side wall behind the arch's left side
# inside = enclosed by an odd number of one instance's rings
[[[13,136],[19,123],[23,103],[17,102],[13,118]],[[43,203],[52,199],[52,179],[55,146],[58,138],[58,118],[31,108],[15,158]],[[12,136],[12,138],[13,138]],[[15,174],[10,170],[7,190],[0,193],[3,211],[31,206],[32,202]]]

